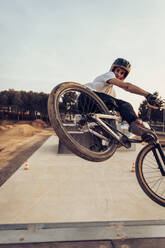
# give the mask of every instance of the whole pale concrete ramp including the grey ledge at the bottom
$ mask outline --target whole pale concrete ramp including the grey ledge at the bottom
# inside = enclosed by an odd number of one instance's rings
[[[46,236],[45,242],[163,238],[165,209],[131,172],[141,148],[92,163],[57,154],[58,138],[51,136],[28,159],[29,169],[23,164],[0,187],[0,244]]]

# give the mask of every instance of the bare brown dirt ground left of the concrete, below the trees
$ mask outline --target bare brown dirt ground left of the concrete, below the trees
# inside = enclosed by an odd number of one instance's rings
[[[54,131],[42,120],[0,123],[0,186]]]

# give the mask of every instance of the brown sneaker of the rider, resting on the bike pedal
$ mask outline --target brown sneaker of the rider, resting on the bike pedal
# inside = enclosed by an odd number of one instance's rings
[[[146,133],[147,134],[152,134],[152,136],[154,136],[155,140],[157,140],[157,135],[156,133],[145,127],[142,120],[140,119],[137,119],[136,121],[133,121],[130,126],[129,126],[129,132],[137,135],[137,136],[143,136],[145,135]]]

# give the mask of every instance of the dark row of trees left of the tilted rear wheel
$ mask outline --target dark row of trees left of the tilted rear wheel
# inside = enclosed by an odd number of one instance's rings
[[[14,89],[0,92],[0,119],[48,121],[48,94]]]

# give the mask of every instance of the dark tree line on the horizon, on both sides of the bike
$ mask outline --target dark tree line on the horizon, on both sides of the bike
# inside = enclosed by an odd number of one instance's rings
[[[154,93],[158,97],[158,92]],[[48,120],[47,102],[49,94],[33,91],[16,91],[9,89],[0,92],[0,119],[15,119],[15,120],[34,120],[40,118]],[[163,107],[165,101],[158,98],[160,109],[150,109],[147,101],[144,100],[139,106],[139,117],[143,121],[163,122],[165,115]],[[76,104],[76,96],[65,94],[63,101],[60,104],[62,112],[70,112],[74,110]],[[74,111],[73,111],[74,112]]]

